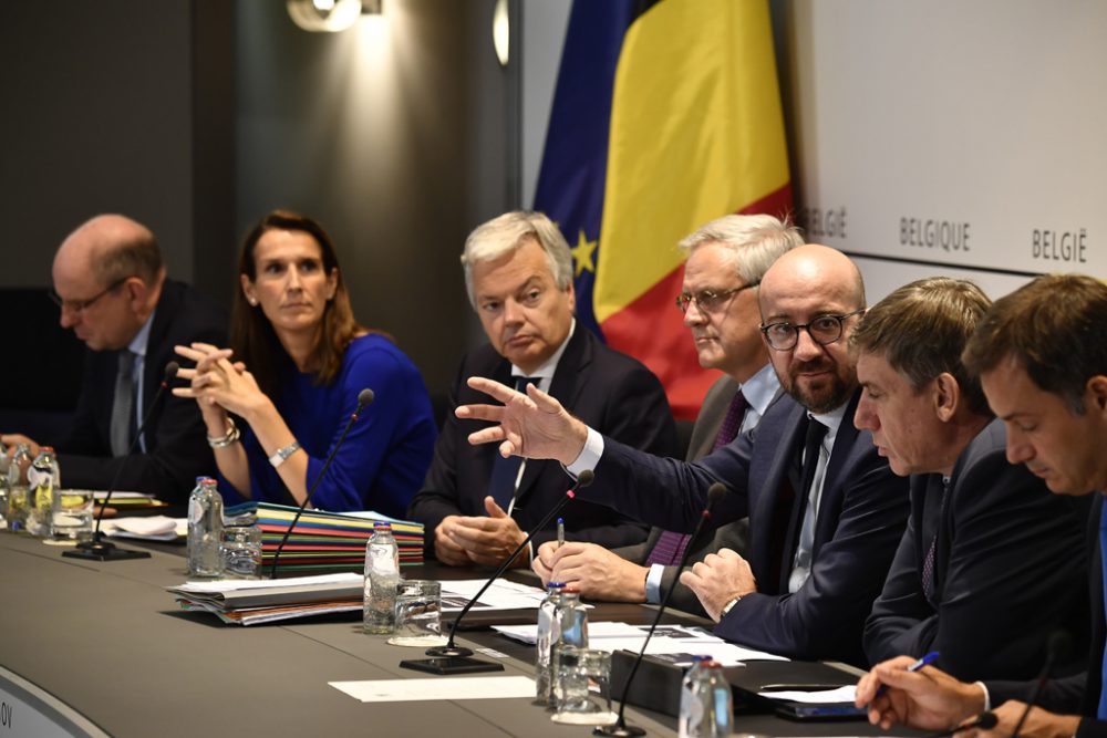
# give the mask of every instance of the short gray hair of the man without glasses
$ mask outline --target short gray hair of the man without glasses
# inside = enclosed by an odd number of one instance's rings
[[[473,292],[473,264],[478,261],[498,259],[513,249],[534,241],[546,252],[554,283],[559,290],[568,290],[572,283],[572,254],[565,236],[554,222],[541,212],[513,210],[477,226],[465,239],[462,267],[465,269],[465,290],[469,293],[469,304],[476,310]]]

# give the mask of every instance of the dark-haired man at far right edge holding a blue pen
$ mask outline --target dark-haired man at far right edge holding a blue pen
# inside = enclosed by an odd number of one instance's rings
[[[1088,595],[1092,643],[1087,671],[1046,680],[1037,707],[1026,700],[1032,682],[961,682],[928,666],[911,672],[910,656],[872,667],[857,686],[858,706],[886,729],[893,724],[923,730],[946,729],[982,710],[994,709],[994,732],[1043,737],[1107,736],[1104,694],[1105,623],[1103,549],[1107,519],[1107,287],[1080,274],[1039,277],[996,300],[962,356],[979,376],[989,405],[1006,427],[1006,455],[1058,495],[1098,491],[1088,519]],[[1076,548],[1076,547],[1074,547]],[[1074,558],[1082,551],[1073,551]],[[1021,575],[1020,581],[1023,581]],[[1007,616],[994,612],[992,622]],[[1051,634],[1039,632],[1044,642]],[[1051,638],[1052,640],[1052,638]]]

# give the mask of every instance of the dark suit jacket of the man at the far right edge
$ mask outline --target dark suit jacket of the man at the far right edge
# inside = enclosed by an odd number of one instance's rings
[[[1099,518],[1103,514],[1104,496],[1093,493],[1092,510],[1088,516],[1086,545],[1090,552],[1088,562],[1088,604],[1090,611],[1090,645],[1088,646],[1087,669],[1058,679],[1049,679],[1042,688],[1037,704],[1058,714],[1085,716],[1076,730],[1077,738],[1107,737],[1107,720],[1096,719],[1099,708],[1099,693],[1103,688],[1104,649],[1107,648],[1107,623],[1104,616],[1103,550],[1099,544]],[[1047,634],[1039,634],[1043,640]],[[999,707],[1008,699],[1027,701],[1035,680],[1030,682],[985,682],[992,707]]]

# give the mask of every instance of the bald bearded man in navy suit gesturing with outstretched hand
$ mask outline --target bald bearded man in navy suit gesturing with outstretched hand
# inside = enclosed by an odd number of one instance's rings
[[[730,549],[685,572],[716,634],[793,658],[865,663],[861,630],[903,532],[908,488],[852,417],[859,396],[848,350],[865,312],[857,267],[803,246],[765,273],[761,331],[788,393],[757,427],[696,462],[660,459],[600,436],[557,401],[482,377],[469,385],[505,405],[459,407],[493,420],[469,441],[503,455],[594,469],[579,497],[669,530],[692,531],[715,481],[728,488],[715,524],[748,514],[748,560]]]

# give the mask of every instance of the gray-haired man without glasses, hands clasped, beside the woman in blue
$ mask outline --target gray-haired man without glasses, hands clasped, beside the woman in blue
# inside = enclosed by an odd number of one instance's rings
[[[534,383],[606,433],[673,453],[676,432],[658,378],[577,325],[569,246],[546,216],[508,212],[479,226],[462,263],[489,343],[462,361],[452,407],[479,397],[465,385],[474,374]],[[500,564],[569,486],[556,462],[520,464],[498,458],[492,447],[469,446],[466,436],[478,427],[451,414],[407,510],[426,527],[427,553],[452,565]],[[571,540],[614,547],[645,538],[644,526],[601,505],[575,501],[562,518]],[[551,523],[534,540],[555,536]]]

